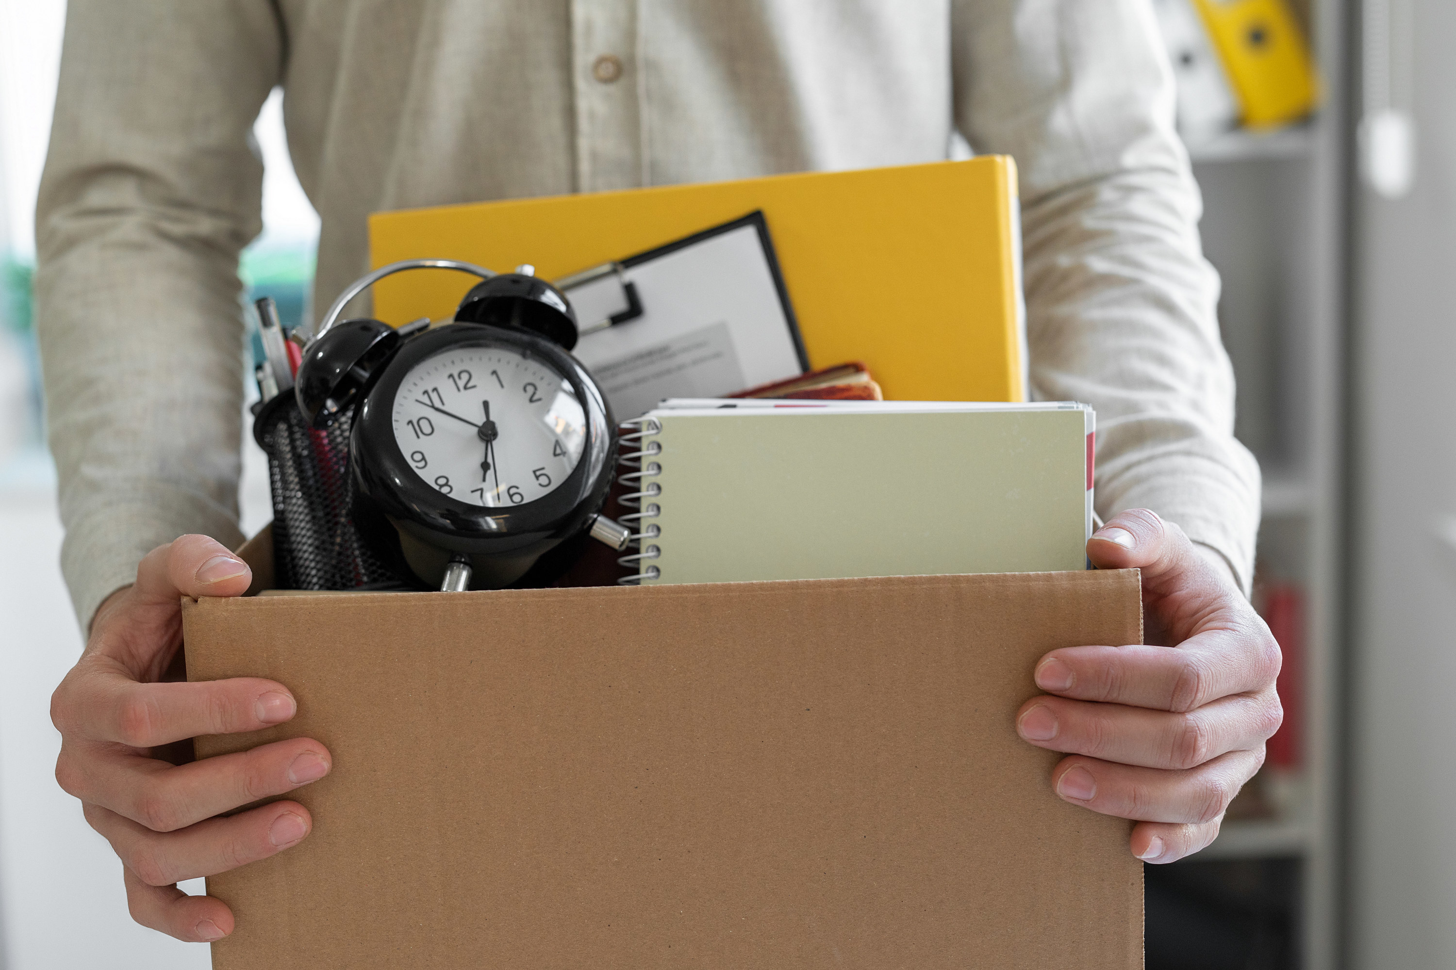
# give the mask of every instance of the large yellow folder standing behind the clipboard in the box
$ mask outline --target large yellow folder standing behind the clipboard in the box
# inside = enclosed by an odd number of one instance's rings
[[[547,279],[763,209],[812,366],[863,361],[894,400],[1025,400],[1016,167],[1009,157],[782,175],[370,217],[374,266],[531,263]],[[448,270],[379,284],[374,313],[447,317]]]

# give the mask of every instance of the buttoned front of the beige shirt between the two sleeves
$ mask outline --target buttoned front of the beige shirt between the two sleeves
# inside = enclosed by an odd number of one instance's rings
[[[316,305],[373,211],[946,157],[948,0],[282,0]]]

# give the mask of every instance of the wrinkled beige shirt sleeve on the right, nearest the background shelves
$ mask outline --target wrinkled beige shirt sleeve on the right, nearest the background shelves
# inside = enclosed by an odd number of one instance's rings
[[[1248,592],[1259,468],[1156,31],[1146,0],[957,0],[957,127],[1016,159],[1031,390],[1096,409],[1099,515],[1153,509]]]

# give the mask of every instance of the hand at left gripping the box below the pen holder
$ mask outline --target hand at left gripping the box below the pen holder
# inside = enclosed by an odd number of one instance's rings
[[[221,939],[233,913],[181,880],[215,875],[297,845],[313,820],[297,801],[232,817],[239,806],[326,775],[328,749],[297,737],[173,765],[157,749],[198,734],[255,731],[291,718],[281,684],[236,678],[162,682],[182,646],[182,596],[240,596],[248,566],[204,535],[183,535],[141,561],[135,586],[96,612],[90,641],[51,698],[61,731],[55,779],[121,857],[131,918],[186,941]]]

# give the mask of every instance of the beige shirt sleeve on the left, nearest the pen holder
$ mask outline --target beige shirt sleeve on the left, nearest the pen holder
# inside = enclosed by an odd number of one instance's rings
[[[268,0],[70,0],[36,204],[36,324],[83,627],[185,532],[240,541],[239,252],[252,125],[278,81]]]

